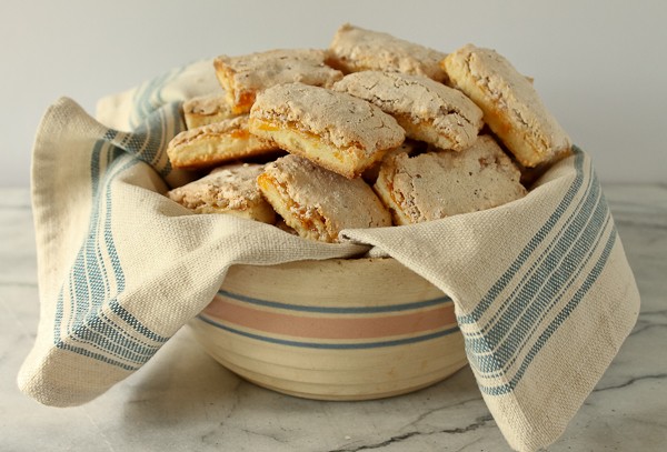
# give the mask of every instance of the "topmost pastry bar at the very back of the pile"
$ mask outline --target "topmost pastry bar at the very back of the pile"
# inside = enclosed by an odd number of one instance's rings
[[[329,63],[346,73],[366,70],[421,74],[437,81],[447,76],[440,68],[446,53],[349,23],[341,26],[329,46]]]

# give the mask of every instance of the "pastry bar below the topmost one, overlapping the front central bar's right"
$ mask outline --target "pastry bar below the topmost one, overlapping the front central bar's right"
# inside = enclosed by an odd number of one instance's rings
[[[362,71],[346,76],[334,90],[378,106],[396,118],[409,138],[460,151],[482,127],[481,110],[464,93],[424,76]]]

